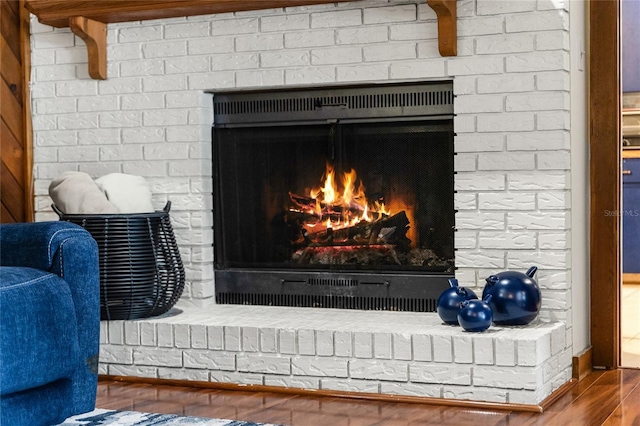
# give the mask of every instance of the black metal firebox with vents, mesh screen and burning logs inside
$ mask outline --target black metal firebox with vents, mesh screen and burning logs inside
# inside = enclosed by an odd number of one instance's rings
[[[455,270],[451,82],[213,107],[217,303],[435,311]]]

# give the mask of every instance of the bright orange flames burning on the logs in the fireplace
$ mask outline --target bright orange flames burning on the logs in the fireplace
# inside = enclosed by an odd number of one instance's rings
[[[309,192],[311,202],[303,208],[304,213],[318,218],[305,224],[309,231],[348,228],[361,221],[375,222],[390,215],[383,202],[375,201],[370,205],[355,170],[343,173],[341,184],[342,192],[336,182],[334,168],[327,164],[323,186]]]

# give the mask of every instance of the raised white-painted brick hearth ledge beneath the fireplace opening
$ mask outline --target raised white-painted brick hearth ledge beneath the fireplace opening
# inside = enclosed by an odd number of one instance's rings
[[[469,333],[435,313],[180,305],[101,324],[100,374],[508,404],[571,379],[565,324]]]

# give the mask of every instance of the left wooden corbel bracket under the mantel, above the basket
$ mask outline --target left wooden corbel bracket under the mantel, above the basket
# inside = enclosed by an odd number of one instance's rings
[[[69,18],[69,28],[87,45],[89,75],[96,80],[107,79],[107,24],[84,16]]]

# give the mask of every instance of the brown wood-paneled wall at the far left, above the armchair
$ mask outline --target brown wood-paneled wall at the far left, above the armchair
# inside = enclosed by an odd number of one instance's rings
[[[29,14],[20,0],[0,1],[0,222],[33,220]]]

